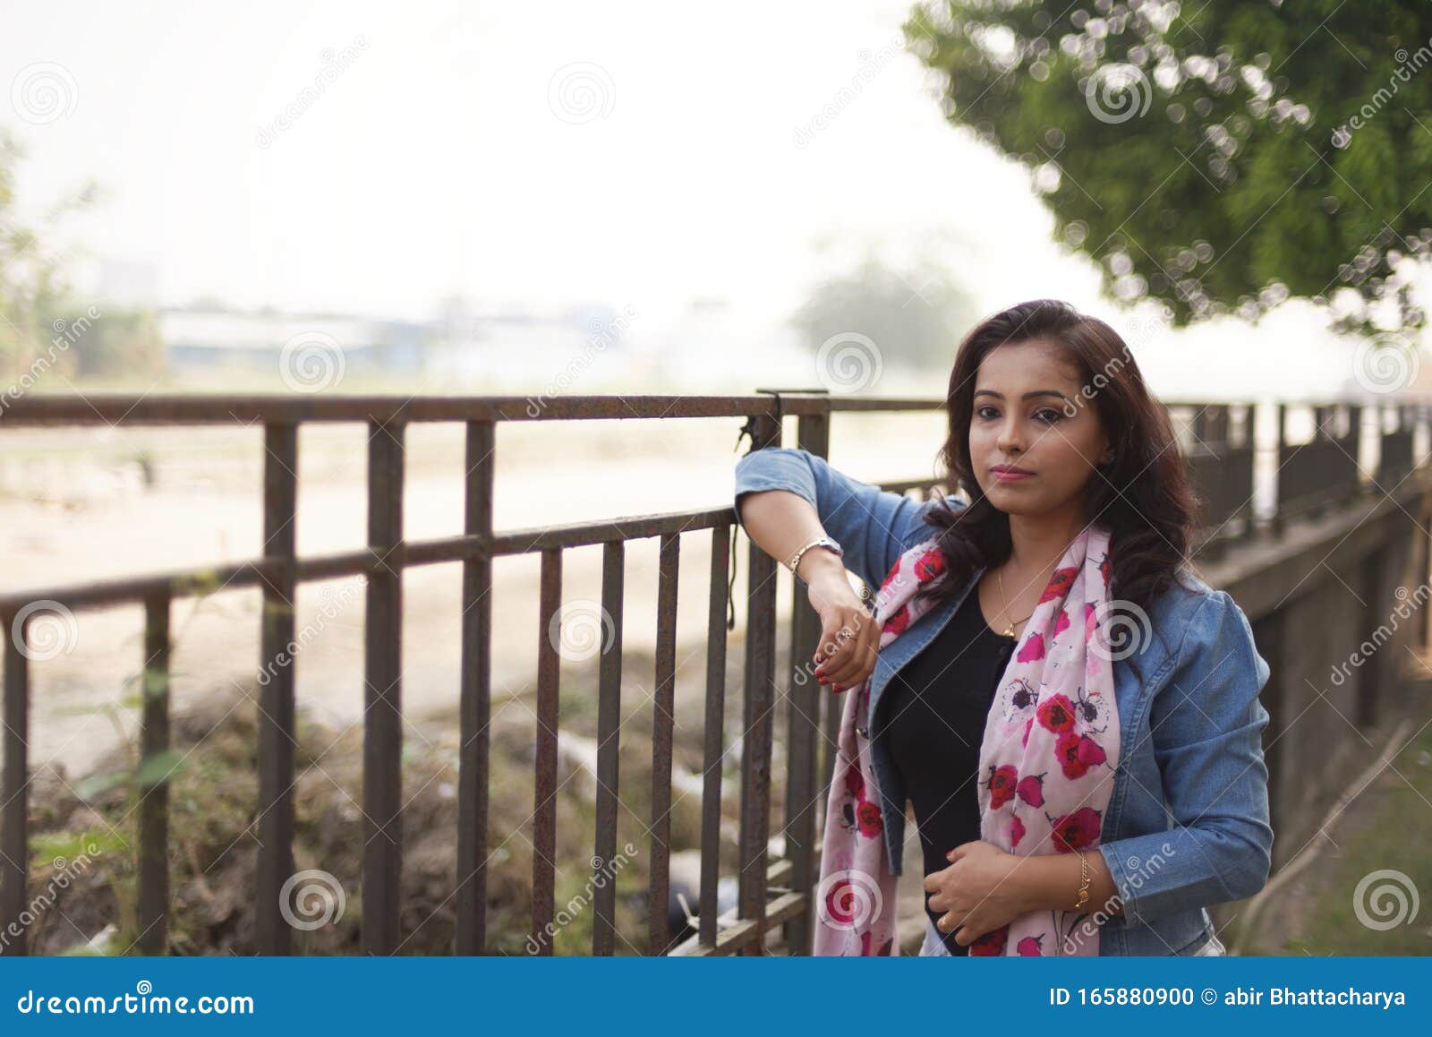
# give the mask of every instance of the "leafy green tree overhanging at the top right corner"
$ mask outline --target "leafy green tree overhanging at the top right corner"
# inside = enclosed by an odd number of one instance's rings
[[[905,34],[1114,296],[1177,324],[1297,295],[1342,329],[1422,325],[1432,4],[929,0]]]

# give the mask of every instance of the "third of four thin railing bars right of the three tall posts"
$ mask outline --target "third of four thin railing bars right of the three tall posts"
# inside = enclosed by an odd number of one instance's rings
[[[672,728],[676,703],[676,584],[682,537],[662,536],[656,590],[656,679],[652,702],[652,868],[647,884],[647,954],[670,942]]]

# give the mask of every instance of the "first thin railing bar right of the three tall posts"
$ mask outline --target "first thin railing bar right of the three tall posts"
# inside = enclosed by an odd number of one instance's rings
[[[533,940],[551,954],[557,887],[557,695],[561,676],[561,549],[541,553],[537,639],[537,773],[533,809]]]

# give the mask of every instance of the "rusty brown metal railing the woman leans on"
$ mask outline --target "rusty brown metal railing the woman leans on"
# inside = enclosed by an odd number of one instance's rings
[[[47,599],[70,610],[142,603],[145,609],[145,696],[140,746],[146,759],[170,745],[169,614],[176,599],[223,587],[258,587],[263,597],[261,663],[272,672],[259,693],[258,718],[258,898],[256,944],[262,954],[291,952],[291,927],[281,912],[281,889],[294,874],[295,688],[284,647],[294,640],[292,602],[299,583],[348,574],[367,576],[364,630],[364,759],[362,759],[362,947],[392,952],[400,934],[401,818],[401,639],[404,569],[438,563],[463,566],[461,685],[458,756],[458,824],[455,874],[455,951],[480,954],[487,947],[487,816],[490,804],[491,719],[491,590],[493,560],[540,554],[536,802],[533,825],[533,932],[543,932],[554,914],[557,842],[557,720],[558,655],[547,632],[558,619],[563,596],[563,553],[603,546],[601,604],[613,620],[614,640],[600,660],[597,709],[597,804],[594,871],[616,855],[619,791],[619,726],[621,685],[623,561],[632,540],[660,541],[656,632],[656,690],[652,735],[652,816],[647,952],[723,954],[762,952],[768,931],[780,925],[788,948],[811,945],[812,888],[818,865],[818,808],[825,802],[835,766],[839,730],[838,696],[822,695],[816,682],[783,675],[776,682],[776,583],[779,567],[749,546],[748,633],[742,696],[740,835],[737,920],[717,925],[719,838],[722,806],[720,759],[726,712],[725,662],[727,580],[736,516],[729,504],[709,510],[673,511],[604,521],[573,523],[497,531],[493,529],[495,428],[504,421],[746,418],[743,434],[753,450],[780,445],[783,418],[796,420],[796,443],[825,457],[831,420],[838,413],[935,411],[941,400],[841,398],[819,391],[758,390],[742,397],[564,397],[533,413],[518,397],[79,397],[36,395],[10,402],[0,415],[0,433],[36,425],[243,425],[263,427],[263,547],[249,561],[205,570],[106,580],[83,586],[46,587],[0,594],[4,639],[4,732],[0,802],[0,928],[19,925],[26,911],[29,852],[29,660],[21,652],[24,614],[30,602]],[[1229,434],[1230,407],[1191,407],[1197,445],[1187,453],[1200,491],[1209,498],[1210,518],[1220,530],[1252,531],[1252,435]],[[1383,443],[1386,464],[1411,466],[1409,411],[1399,411],[1398,430]],[[1419,411],[1421,415],[1421,411]],[[1249,408],[1237,423],[1247,428]],[[295,544],[298,507],[298,431],[306,423],[362,423],[368,430],[368,536],[358,551],[299,557]],[[461,536],[408,540],[402,529],[404,435],[414,423],[465,425],[465,517]],[[1282,427],[1282,415],[1279,420]],[[1352,423],[1356,430],[1356,421]],[[1406,437],[1398,438],[1398,437]],[[1317,438],[1303,447],[1280,448],[1279,524],[1309,503],[1346,493],[1356,466],[1346,464],[1346,441]],[[1306,451],[1306,457],[1305,457]],[[1356,444],[1352,444],[1356,457]],[[1350,474],[1349,474],[1350,473]],[[931,480],[881,484],[886,490],[929,490]],[[1285,486],[1287,491],[1285,493]],[[1246,520],[1246,521],[1230,521]],[[1210,523],[1211,524],[1211,523]],[[673,945],[667,925],[670,794],[673,749],[673,689],[676,660],[676,589],[680,537],[709,531],[710,599],[705,700],[705,776],[700,835],[699,932]],[[1220,533],[1221,543],[1230,534]],[[733,623],[733,617],[732,617]],[[815,612],[796,600],[790,617],[792,660],[809,657],[819,639]],[[785,698],[785,858],[772,862],[772,741],[778,699]],[[142,786],[139,804],[137,945],[145,954],[168,950],[169,921],[169,776]],[[779,895],[772,897],[772,892]],[[599,882],[594,891],[594,954],[613,954],[616,888]],[[23,927],[20,927],[23,930]],[[548,941],[540,941],[550,954]],[[24,935],[4,951],[26,952]]]

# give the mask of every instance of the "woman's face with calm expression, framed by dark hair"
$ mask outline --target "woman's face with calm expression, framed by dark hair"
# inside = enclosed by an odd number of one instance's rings
[[[1111,454],[1078,370],[1045,341],[1005,342],[975,375],[969,460],[990,503],[1007,514],[1042,514],[1077,503]],[[1070,417],[1073,414],[1073,417]],[[1030,474],[1004,476],[1000,466]]]

